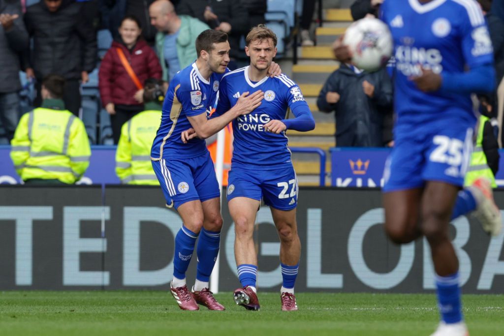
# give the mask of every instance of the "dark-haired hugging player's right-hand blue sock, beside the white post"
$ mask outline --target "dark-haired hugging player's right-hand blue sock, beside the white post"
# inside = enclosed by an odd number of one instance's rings
[[[196,279],[208,282],[214,269],[217,254],[219,254],[220,231],[213,232],[205,229],[201,230],[200,240],[196,253],[198,254],[198,267]]]

